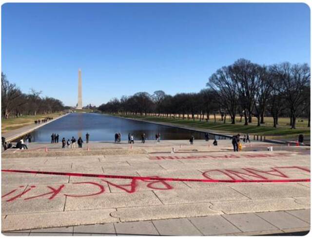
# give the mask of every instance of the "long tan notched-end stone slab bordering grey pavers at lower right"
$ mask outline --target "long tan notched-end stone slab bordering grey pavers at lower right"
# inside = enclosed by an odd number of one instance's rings
[[[211,209],[220,210],[225,214],[281,211],[304,208],[307,208],[307,206],[296,203],[293,198],[216,201],[213,202],[213,205],[211,206]]]

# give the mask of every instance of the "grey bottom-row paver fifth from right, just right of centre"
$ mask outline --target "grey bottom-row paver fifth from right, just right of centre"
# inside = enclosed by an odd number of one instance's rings
[[[188,219],[153,220],[161,236],[201,236],[201,233]]]

